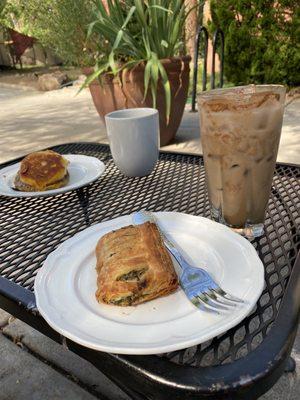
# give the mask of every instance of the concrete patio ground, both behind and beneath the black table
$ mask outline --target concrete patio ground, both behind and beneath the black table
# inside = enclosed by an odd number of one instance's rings
[[[74,141],[107,142],[90,95],[78,88],[40,93],[0,85],[0,162]],[[286,107],[278,161],[300,164],[300,99]],[[197,114],[189,107],[176,141],[164,149],[201,152]],[[0,400],[129,400],[92,365],[0,309]],[[295,373],[262,400],[300,398],[300,334]]]

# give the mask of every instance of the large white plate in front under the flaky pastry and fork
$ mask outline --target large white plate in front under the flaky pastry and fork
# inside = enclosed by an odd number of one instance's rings
[[[49,325],[95,350],[155,354],[202,343],[250,313],[264,286],[264,267],[253,246],[206,218],[173,212],[156,216],[194,266],[207,269],[245,304],[215,315],[193,306],[182,289],[135,307],[99,304],[95,246],[105,233],[131,224],[131,217],[124,216],[85,229],[48,256],[34,288],[38,309]]]

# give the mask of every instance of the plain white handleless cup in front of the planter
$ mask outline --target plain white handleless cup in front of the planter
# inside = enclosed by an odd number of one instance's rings
[[[124,175],[149,175],[158,160],[159,118],[154,108],[129,108],[105,116],[115,164]]]

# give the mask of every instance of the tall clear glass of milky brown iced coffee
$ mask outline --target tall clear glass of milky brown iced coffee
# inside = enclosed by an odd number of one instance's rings
[[[260,236],[280,140],[285,88],[216,89],[198,96],[212,217]]]

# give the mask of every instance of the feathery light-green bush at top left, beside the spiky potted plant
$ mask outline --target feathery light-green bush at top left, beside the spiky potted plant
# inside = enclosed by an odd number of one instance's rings
[[[93,37],[86,39],[94,12],[94,0],[7,0],[0,23],[35,37],[67,64],[88,66],[97,52]]]

